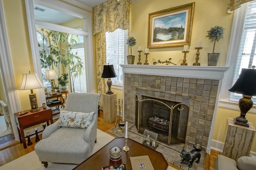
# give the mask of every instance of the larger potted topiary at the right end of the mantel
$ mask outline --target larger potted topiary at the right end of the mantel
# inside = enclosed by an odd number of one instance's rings
[[[206,37],[210,39],[210,42],[214,42],[212,53],[208,53],[208,66],[216,66],[218,63],[218,59],[220,53],[214,53],[216,41],[218,42],[220,38],[224,35],[224,28],[222,26],[214,26],[211,27],[210,30],[207,31]]]

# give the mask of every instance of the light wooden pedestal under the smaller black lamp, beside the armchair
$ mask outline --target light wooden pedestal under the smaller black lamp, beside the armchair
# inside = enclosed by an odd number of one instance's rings
[[[103,94],[103,120],[112,123],[116,121],[116,94]]]

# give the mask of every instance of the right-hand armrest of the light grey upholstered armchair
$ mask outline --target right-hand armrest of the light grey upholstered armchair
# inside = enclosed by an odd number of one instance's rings
[[[84,140],[87,143],[92,143],[96,140],[96,135],[97,135],[97,113],[94,112],[93,116],[92,116],[92,122],[90,123],[90,125],[87,127],[86,131],[85,131],[85,135],[84,135]]]

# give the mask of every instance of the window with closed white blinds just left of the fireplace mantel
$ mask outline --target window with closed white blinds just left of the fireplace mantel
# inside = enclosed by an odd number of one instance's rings
[[[106,33],[106,63],[113,64],[117,77],[111,78],[113,84],[123,84],[123,71],[120,64],[124,64],[126,56],[126,37],[128,30],[116,29]]]

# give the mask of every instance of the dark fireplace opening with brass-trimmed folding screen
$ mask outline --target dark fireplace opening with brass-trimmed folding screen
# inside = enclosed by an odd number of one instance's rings
[[[167,145],[185,143],[189,107],[186,104],[136,96],[136,120],[138,132],[144,130],[158,134],[158,141]]]

